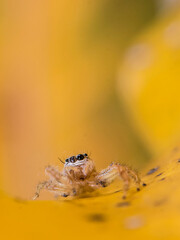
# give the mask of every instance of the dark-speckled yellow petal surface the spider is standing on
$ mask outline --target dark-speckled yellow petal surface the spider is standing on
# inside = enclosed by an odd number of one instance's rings
[[[1,193],[1,238],[178,239],[179,156],[175,148],[153,161],[141,174],[147,186],[140,192],[132,187],[126,200],[113,187],[65,201],[22,201]]]

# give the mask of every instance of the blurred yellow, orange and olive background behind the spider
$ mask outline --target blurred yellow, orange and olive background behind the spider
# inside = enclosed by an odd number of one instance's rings
[[[141,169],[179,138],[179,1],[1,0],[0,26],[11,196],[31,199],[58,157]]]

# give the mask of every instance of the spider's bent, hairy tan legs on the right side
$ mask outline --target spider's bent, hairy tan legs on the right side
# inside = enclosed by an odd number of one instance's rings
[[[97,176],[96,181],[102,187],[106,187],[111,184],[117,177],[120,177],[123,181],[123,198],[126,198],[127,191],[129,190],[131,179],[137,185],[137,190],[140,190],[141,180],[136,172],[128,168],[127,166],[123,166],[119,163],[112,163],[108,168],[102,170]],[[145,184],[143,183],[143,186]]]

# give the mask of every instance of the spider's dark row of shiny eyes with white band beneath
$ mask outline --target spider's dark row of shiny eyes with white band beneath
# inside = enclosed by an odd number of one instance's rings
[[[89,157],[87,153],[78,154],[77,156],[69,157],[65,160],[65,166],[76,167],[76,166],[83,165],[88,161],[88,158]]]

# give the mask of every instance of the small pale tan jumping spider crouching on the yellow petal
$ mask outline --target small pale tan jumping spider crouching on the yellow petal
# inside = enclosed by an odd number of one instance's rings
[[[37,185],[33,199],[39,197],[42,189],[47,189],[62,197],[80,196],[108,186],[117,177],[123,181],[123,198],[126,198],[131,179],[137,185],[137,190],[140,190],[141,180],[137,173],[120,163],[111,163],[108,168],[97,172],[94,162],[87,153],[67,158],[65,162],[61,159],[60,161],[64,164],[63,171],[59,172],[55,167],[48,166],[45,173],[50,180]],[[142,186],[146,186],[146,184],[143,183]]]

